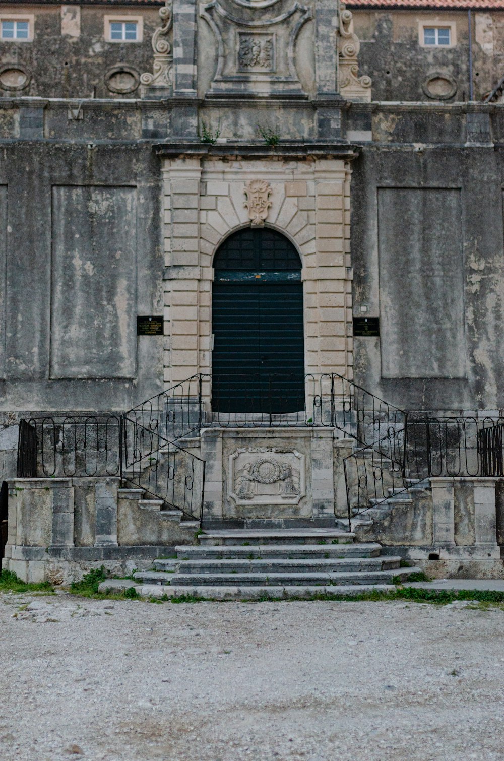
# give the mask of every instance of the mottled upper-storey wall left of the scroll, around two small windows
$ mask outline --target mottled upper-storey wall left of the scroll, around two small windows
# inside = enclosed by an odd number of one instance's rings
[[[0,73],[4,97],[136,97],[139,77],[152,68],[152,33],[158,26],[158,5],[8,5],[0,17],[20,14],[33,19],[33,40],[2,40],[0,71],[24,72],[26,84],[16,90],[19,75]],[[142,42],[116,43],[104,36],[104,16],[142,18]],[[30,22],[31,23],[31,22]],[[114,76],[116,69],[123,73]],[[111,88],[107,86],[111,85]],[[114,88],[124,88],[116,92]]]

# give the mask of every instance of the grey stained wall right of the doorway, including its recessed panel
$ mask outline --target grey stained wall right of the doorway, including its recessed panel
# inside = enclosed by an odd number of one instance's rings
[[[354,339],[356,379],[402,409],[502,409],[499,107],[366,108],[353,314],[380,317],[381,336]]]

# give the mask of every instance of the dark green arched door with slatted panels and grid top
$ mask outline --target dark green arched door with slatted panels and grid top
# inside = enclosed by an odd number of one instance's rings
[[[215,254],[212,294],[214,412],[305,407],[301,260],[284,235],[238,231]]]

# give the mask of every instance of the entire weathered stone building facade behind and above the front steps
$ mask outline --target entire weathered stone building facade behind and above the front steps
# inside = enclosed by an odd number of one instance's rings
[[[335,0],[5,8],[8,567],[350,520],[502,575],[499,103],[393,102]]]

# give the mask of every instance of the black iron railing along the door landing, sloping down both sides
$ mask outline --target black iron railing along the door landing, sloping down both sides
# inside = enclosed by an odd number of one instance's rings
[[[125,417],[168,441],[199,434],[202,428],[308,426],[338,428],[365,446],[379,446],[407,422],[406,412],[337,373],[249,374],[233,376],[233,381],[239,393],[231,395],[230,377],[193,375]]]

